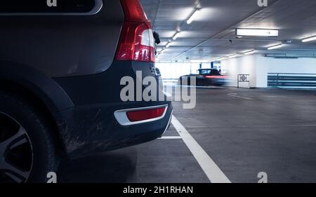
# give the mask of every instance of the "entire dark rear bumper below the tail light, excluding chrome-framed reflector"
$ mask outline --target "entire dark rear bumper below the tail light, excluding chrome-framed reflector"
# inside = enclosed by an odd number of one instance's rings
[[[142,80],[136,77],[136,71],[141,71],[145,78],[153,76],[152,67],[154,64],[146,62],[114,62],[110,69],[100,74],[55,79],[74,102],[73,108],[60,111],[64,121],[60,138],[69,158],[149,142],[166,131],[173,111],[171,102],[123,102],[120,98],[124,88],[120,85],[122,77]],[[167,109],[157,120],[124,125],[115,117],[116,111],[162,105]]]

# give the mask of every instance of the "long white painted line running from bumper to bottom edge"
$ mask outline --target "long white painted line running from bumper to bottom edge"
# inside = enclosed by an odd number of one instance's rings
[[[172,125],[176,128],[180,137],[190,149],[191,153],[197,160],[197,163],[201,166],[202,170],[209,178],[211,183],[231,183],[230,179],[226,177],[224,172],[218,168],[218,165],[206,154],[206,151],[195,141],[195,139],[187,132],[185,127],[178,121],[175,116],[172,116]]]

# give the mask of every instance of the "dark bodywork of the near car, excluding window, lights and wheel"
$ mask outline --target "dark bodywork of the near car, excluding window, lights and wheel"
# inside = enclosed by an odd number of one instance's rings
[[[94,15],[0,15],[0,22],[0,80],[44,101],[68,158],[148,142],[168,127],[171,102],[121,100],[122,77],[141,83],[159,76],[152,62],[114,60],[124,23],[119,0],[103,0]],[[123,126],[114,117],[117,110],[163,104],[168,110],[157,121]]]

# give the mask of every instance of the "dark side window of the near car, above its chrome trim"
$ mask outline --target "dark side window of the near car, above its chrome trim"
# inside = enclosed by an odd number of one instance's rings
[[[0,13],[88,13],[95,0],[1,0]]]

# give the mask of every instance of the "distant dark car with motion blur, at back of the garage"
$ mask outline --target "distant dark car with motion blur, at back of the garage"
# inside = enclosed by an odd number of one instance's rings
[[[226,76],[220,74],[218,69],[199,69],[199,74],[189,74],[185,76],[180,76],[180,85],[190,86],[190,77],[196,78],[197,86],[224,86],[226,81]],[[184,84],[183,79],[187,80],[187,84]]]

